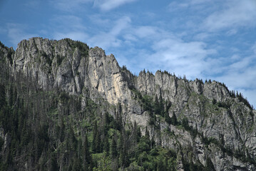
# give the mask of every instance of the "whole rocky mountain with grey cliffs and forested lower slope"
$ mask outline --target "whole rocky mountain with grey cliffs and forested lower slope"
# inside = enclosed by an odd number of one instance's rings
[[[256,170],[256,111],[224,83],[68,38],[1,44],[0,71],[0,170]]]

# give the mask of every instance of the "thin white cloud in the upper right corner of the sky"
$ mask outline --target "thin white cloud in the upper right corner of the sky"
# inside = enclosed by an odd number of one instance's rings
[[[255,21],[255,0],[233,0],[227,1],[224,9],[210,14],[205,19],[203,27],[208,29],[208,31],[218,31],[223,28],[234,28],[237,26],[255,26]]]

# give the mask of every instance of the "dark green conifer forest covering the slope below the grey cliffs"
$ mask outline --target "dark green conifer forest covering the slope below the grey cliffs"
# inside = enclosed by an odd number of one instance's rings
[[[81,108],[78,96],[17,78],[1,74],[0,170],[176,169],[175,151],[155,145],[136,123],[125,125],[121,105],[114,116],[89,98]]]

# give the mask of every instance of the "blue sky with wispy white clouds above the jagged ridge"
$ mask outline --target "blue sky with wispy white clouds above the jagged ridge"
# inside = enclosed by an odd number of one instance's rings
[[[224,82],[256,107],[256,0],[1,0],[0,41],[72,38],[135,74]]]

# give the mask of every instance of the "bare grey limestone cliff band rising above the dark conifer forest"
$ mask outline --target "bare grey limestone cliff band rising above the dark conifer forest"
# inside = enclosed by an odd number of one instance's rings
[[[161,71],[133,76],[112,54],[70,39],[30,38],[15,52],[4,47],[1,51],[6,70],[16,77],[24,73],[43,90],[61,89],[96,103],[120,104],[124,122],[147,127],[155,142],[182,158],[200,165],[210,159],[215,170],[256,170],[255,110],[221,83],[188,81]],[[178,123],[167,123],[158,113],[150,123],[152,113],[144,97],[152,103],[155,97],[163,98],[170,104],[165,107],[169,117]],[[180,161],[180,170],[182,165]]]

